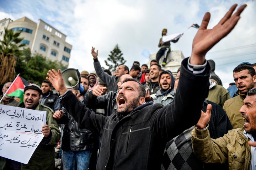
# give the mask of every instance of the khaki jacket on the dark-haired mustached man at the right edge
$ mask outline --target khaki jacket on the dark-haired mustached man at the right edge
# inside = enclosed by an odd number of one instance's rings
[[[241,113],[239,113],[239,110],[242,105],[244,105],[245,97],[245,94],[239,94],[236,97],[227,100],[223,106],[234,129],[244,127],[244,119],[242,118]]]

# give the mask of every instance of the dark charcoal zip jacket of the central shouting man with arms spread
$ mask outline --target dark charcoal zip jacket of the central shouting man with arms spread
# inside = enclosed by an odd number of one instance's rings
[[[182,61],[181,83],[171,104],[146,103],[123,118],[117,113],[95,114],[72,92],[61,97],[61,104],[79,124],[102,137],[97,170],[160,169],[166,142],[197,123],[208,95],[209,65],[205,75],[186,68],[187,59]]]

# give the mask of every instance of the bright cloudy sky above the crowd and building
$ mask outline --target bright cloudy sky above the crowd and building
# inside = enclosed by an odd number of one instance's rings
[[[37,22],[41,19],[63,34],[73,45],[70,68],[94,72],[91,47],[98,49],[98,59],[104,60],[118,44],[126,65],[133,61],[146,64],[147,54],[156,53],[161,30],[167,34],[184,33],[172,50],[190,56],[197,29],[205,12],[211,13],[208,28],[212,28],[234,3],[248,6],[235,29],[207,54],[216,63],[215,73],[228,87],[233,82],[233,69],[243,61],[256,63],[256,2],[254,0],[0,0],[0,20],[17,20],[23,16]]]

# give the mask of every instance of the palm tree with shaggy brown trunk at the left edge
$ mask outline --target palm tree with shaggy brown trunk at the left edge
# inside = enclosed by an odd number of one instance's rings
[[[23,38],[18,38],[21,32],[13,32],[5,28],[4,40],[0,40],[0,84],[13,81],[15,78],[16,60],[21,55],[20,44]]]

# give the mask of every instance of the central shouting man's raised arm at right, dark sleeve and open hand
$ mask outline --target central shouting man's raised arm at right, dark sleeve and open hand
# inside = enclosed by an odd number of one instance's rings
[[[187,128],[197,124],[201,116],[203,102],[209,92],[210,66],[205,62],[205,55],[235,27],[240,18],[239,15],[246,5],[239,7],[238,11],[232,15],[236,6],[233,5],[213,29],[207,29],[210,13],[207,12],[204,15],[201,27],[193,40],[190,61],[188,59],[182,61],[179,85],[173,102],[162,108],[159,111],[160,114],[153,115],[151,130],[159,133],[157,130],[160,128],[163,139],[170,140],[175,135],[177,136]],[[195,67],[194,65],[199,66]],[[200,95],[195,96],[193,94],[195,91]],[[198,127],[206,127],[206,122],[199,122]]]

